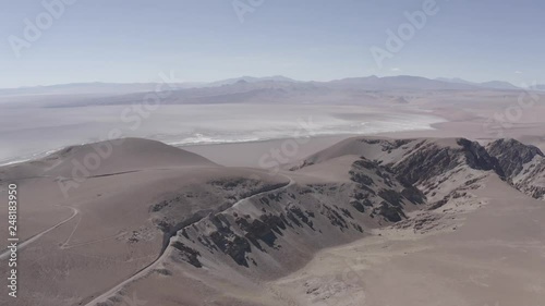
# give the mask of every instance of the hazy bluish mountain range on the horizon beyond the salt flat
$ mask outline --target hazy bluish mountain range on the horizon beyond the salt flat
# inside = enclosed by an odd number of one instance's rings
[[[122,86],[122,85],[119,85]],[[138,89],[149,88],[149,84]],[[191,87],[191,88],[184,88]],[[155,90],[155,86],[153,87]],[[73,88],[72,88],[73,89]],[[148,91],[153,91],[148,90]],[[162,105],[408,105],[426,93],[450,96],[453,91],[522,90],[498,82],[473,84],[460,81],[431,79],[419,76],[366,76],[329,82],[300,82],[283,76],[243,76],[208,84],[181,84],[161,100]],[[451,93],[452,91],[452,93]],[[422,96],[424,94],[424,96]],[[453,93],[456,94],[456,93]],[[143,93],[118,95],[65,96],[49,99],[48,107],[119,106],[142,101]],[[1,93],[0,93],[1,97]],[[37,96],[39,97],[39,96]]]

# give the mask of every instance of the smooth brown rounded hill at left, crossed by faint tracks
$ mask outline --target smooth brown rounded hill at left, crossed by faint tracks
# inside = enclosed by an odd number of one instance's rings
[[[108,145],[112,152],[100,159],[100,167],[73,176],[73,161],[84,163],[96,147]],[[2,207],[5,186],[19,184],[20,238],[43,233],[20,249],[25,287],[10,305],[77,305],[153,262],[170,227],[223,209],[243,194],[288,183],[258,170],[226,171],[194,154],[134,138],[68,148],[44,160],[1,168],[0,173]],[[77,184],[65,197],[60,183]],[[168,216],[154,211],[155,206],[167,207]],[[3,220],[7,211],[0,212]]]

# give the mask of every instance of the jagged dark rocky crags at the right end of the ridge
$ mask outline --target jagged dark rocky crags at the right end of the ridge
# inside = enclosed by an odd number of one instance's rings
[[[514,139],[498,139],[483,146],[464,138],[355,138],[343,146],[350,154],[361,151],[365,158],[386,166],[398,180],[419,187],[432,201],[436,200],[434,194],[439,188],[455,191],[489,173],[534,198],[545,199],[544,154]],[[327,154],[331,152],[324,155]],[[319,160],[319,156],[310,157],[303,167]]]

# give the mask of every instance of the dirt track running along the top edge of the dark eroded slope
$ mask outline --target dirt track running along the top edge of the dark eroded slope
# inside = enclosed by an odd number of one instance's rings
[[[262,193],[258,193],[258,194],[245,197],[243,199],[240,199],[237,203],[234,203],[232,206],[226,208],[225,210],[218,211],[217,213],[221,213],[222,211],[226,211],[227,209],[229,209],[231,207],[237,207],[240,204],[242,204],[244,201],[247,201],[247,200],[250,200],[250,199],[252,199],[254,197],[258,197],[258,196],[262,196],[262,195],[270,193],[270,192],[283,191],[283,189],[287,189],[288,187],[292,186],[293,184],[295,184],[295,181],[292,178],[290,178],[290,176],[288,176],[286,174],[278,174],[278,175],[282,175],[282,176],[287,178],[289,180],[289,183],[286,184],[286,185],[283,185],[283,186],[278,187],[278,188],[266,191],[266,192],[262,192]],[[198,220],[196,220],[193,223],[196,223],[196,222],[201,221],[202,219],[203,218],[199,218]],[[191,223],[191,224],[193,224],[193,223]],[[186,227],[190,227],[191,224],[187,224]],[[178,232],[179,231],[177,231],[175,233],[173,233],[172,237],[177,236]],[[144,267],[143,269],[141,269],[140,271],[137,271],[136,273],[134,273],[132,277],[128,278],[123,282],[121,282],[118,285],[113,286],[109,291],[107,291],[107,292],[100,294],[99,296],[93,298],[90,302],[88,302],[87,304],[85,304],[85,306],[96,306],[98,303],[106,302],[108,298],[110,298],[112,295],[114,295],[121,289],[123,289],[124,285],[126,285],[130,282],[133,282],[133,281],[135,281],[137,279],[141,279],[141,278],[147,276],[149,272],[152,272],[159,264],[162,262],[162,259],[168,258],[168,256],[170,255],[170,253],[171,253],[171,247],[170,247],[170,244],[169,244],[169,246],[167,246],[167,248],[165,248],[165,250],[159,255],[159,257],[157,257],[157,259],[155,259],[152,264],[149,264],[148,266]]]

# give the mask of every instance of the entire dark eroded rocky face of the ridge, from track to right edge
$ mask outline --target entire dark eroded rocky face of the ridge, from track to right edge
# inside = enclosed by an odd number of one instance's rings
[[[543,154],[514,140],[487,147],[463,138],[354,142],[376,147],[375,159],[362,150],[348,169],[350,183],[294,183],[237,196],[232,195],[237,182],[211,182],[229,194],[230,204],[177,229],[182,230],[177,240],[184,245],[178,249],[179,259],[196,267],[203,265],[199,260],[215,261],[221,254],[221,260],[234,268],[255,266],[253,271],[276,277],[305,262],[314,250],[400,222],[411,211],[471,198],[471,191],[487,175],[499,175],[520,191],[543,197],[543,187],[536,184],[545,172]],[[304,161],[294,171],[313,164]],[[291,261],[283,257],[288,248]]]

